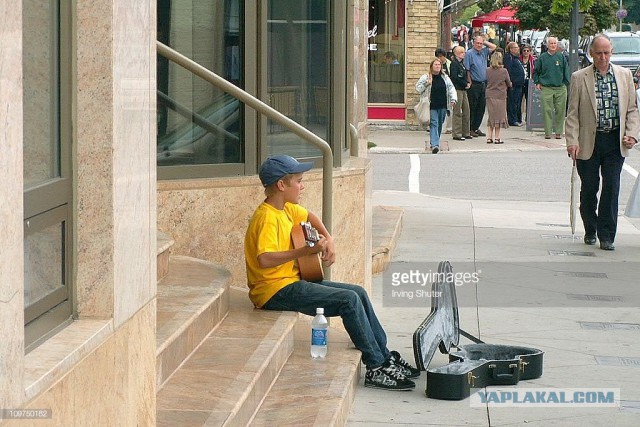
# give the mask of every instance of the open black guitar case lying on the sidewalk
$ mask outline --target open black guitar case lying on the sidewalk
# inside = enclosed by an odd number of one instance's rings
[[[542,375],[541,350],[486,344],[460,328],[453,270],[448,261],[438,265],[432,284],[431,313],[413,334],[418,369],[427,371],[426,395],[432,399],[462,400],[472,389],[515,385]],[[435,297],[435,296],[438,297]],[[460,335],[473,344],[458,345]],[[455,351],[451,351],[455,347]],[[436,348],[449,354],[449,364],[428,369]]]

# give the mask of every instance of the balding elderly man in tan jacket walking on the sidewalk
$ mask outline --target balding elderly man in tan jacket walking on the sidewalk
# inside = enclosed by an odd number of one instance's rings
[[[609,38],[596,35],[590,48],[593,65],[571,76],[566,134],[567,152],[582,182],[584,243],[595,245],[597,236],[600,249],[607,251],[615,249],[622,165],[640,131],[633,76],[610,63],[612,51]]]

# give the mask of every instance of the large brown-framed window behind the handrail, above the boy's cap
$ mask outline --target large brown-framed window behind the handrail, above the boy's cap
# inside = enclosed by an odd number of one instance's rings
[[[158,0],[157,10],[160,42],[339,147],[340,163],[348,149],[346,59],[339,56],[346,54],[347,3]],[[252,175],[271,154],[321,156],[164,57],[157,67],[160,179]]]

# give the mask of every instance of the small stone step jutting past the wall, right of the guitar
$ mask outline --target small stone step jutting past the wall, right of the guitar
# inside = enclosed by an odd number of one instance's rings
[[[404,210],[396,206],[374,206],[371,227],[372,274],[384,272],[391,262],[402,231]]]

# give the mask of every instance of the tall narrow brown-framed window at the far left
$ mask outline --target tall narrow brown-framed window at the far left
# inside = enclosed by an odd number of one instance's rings
[[[69,4],[23,3],[27,350],[71,318]]]

